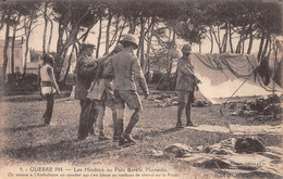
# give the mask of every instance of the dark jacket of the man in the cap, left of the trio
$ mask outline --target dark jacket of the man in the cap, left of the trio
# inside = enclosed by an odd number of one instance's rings
[[[90,87],[91,81],[97,68],[97,62],[87,56],[86,54],[81,54],[76,62],[76,88],[75,88],[75,99],[86,100],[87,90]]]

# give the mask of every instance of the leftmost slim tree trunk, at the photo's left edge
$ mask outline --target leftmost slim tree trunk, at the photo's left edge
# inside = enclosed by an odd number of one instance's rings
[[[4,82],[5,80],[5,72],[7,72],[7,65],[8,65],[8,48],[9,48],[9,34],[10,34],[10,13],[8,14],[7,17],[7,24],[5,24],[5,44],[4,44],[4,49],[3,49],[3,69],[2,69],[2,81],[1,84]],[[2,85],[1,85],[2,86]]]

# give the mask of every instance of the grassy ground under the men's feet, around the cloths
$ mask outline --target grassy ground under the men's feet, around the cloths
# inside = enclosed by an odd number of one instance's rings
[[[190,146],[210,145],[233,137],[231,133],[206,132],[189,129],[175,129],[176,106],[153,107],[152,102],[144,101],[144,113],[133,131],[139,142],[131,148],[119,148],[111,141],[99,142],[97,137],[77,141],[79,115],[78,101],[56,100],[51,126],[42,126],[41,115],[46,102],[37,95],[16,95],[4,98],[0,103],[0,166],[21,164],[111,165],[111,166],[165,166],[179,178],[227,178],[216,170],[194,168],[171,157],[148,156],[151,150],[164,149],[173,143]],[[221,116],[220,105],[193,107],[192,119],[195,125],[227,126],[280,125],[280,120],[257,122],[237,116]],[[126,111],[126,123],[131,111]],[[184,122],[185,123],[185,122]],[[111,111],[106,113],[106,135],[112,136]],[[260,136],[267,145],[281,146],[281,136]],[[255,176],[257,177],[257,176]]]

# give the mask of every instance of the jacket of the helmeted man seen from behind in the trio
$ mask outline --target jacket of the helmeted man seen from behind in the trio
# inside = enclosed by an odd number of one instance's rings
[[[148,87],[137,57],[132,51],[122,52],[109,57],[103,75],[114,75],[114,90],[136,90],[135,78],[140,89],[148,94]]]

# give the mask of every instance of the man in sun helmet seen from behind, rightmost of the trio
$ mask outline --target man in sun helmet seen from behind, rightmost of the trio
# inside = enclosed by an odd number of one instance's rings
[[[111,73],[114,75],[114,98],[118,107],[118,119],[114,125],[116,125],[116,135],[120,138],[119,145],[124,145],[126,143],[136,143],[131,133],[139,120],[143,110],[134,77],[138,81],[146,99],[149,91],[144,73],[138,64],[138,59],[134,55],[134,50],[137,49],[136,38],[127,34],[120,43],[123,46],[123,50],[109,59],[109,64],[103,75],[108,76]],[[125,131],[123,131],[125,104],[127,104],[130,110],[134,110],[135,112],[131,116]]]

